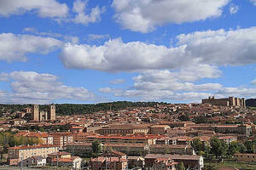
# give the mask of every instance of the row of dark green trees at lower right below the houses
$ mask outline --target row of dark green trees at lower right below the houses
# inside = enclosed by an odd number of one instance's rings
[[[192,147],[194,148],[196,154],[204,156],[216,156],[225,157],[233,156],[236,153],[245,153],[246,146],[241,142],[233,141],[230,145],[226,144],[224,140],[213,137],[210,139],[209,144],[204,144],[201,139],[193,139]]]

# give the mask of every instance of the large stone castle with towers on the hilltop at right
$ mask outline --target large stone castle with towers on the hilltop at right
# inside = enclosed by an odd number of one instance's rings
[[[223,98],[223,99],[215,99],[214,96],[209,96],[208,99],[202,99],[202,104],[212,104],[212,105],[223,105],[223,106],[241,106],[246,107],[244,98]]]

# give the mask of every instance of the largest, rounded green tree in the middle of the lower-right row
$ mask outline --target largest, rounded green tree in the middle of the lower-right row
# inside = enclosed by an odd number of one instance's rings
[[[223,141],[216,137],[210,139],[211,145],[211,153],[214,154],[216,157],[224,157],[227,154],[228,145]]]

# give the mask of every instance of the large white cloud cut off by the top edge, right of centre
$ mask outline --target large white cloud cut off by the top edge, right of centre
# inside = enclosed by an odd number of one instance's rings
[[[125,29],[153,31],[166,23],[182,24],[218,17],[230,0],[113,0],[115,18]]]

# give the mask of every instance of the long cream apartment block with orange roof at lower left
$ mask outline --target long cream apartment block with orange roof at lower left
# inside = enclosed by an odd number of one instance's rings
[[[17,165],[21,160],[32,156],[47,157],[49,154],[57,152],[59,146],[54,144],[39,144],[32,146],[15,146],[8,148],[9,165]]]

